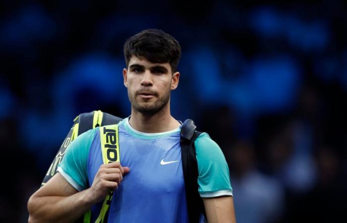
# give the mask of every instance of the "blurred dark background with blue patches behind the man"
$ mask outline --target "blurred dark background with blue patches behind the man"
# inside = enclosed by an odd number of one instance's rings
[[[221,146],[238,223],[343,221],[346,6],[0,1],[0,222],[27,222],[76,115],[130,114],[122,47],[148,28],[181,44],[172,114]]]

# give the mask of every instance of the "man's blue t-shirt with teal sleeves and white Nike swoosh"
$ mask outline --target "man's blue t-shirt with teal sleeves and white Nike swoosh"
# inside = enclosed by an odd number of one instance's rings
[[[109,223],[188,223],[180,128],[143,133],[133,129],[128,118],[119,122],[120,164],[130,172],[114,193]],[[92,185],[103,164],[99,132],[95,128],[78,136],[58,166],[78,191]],[[219,146],[202,133],[195,140],[195,149],[200,196],[232,196],[229,168]],[[92,222],[99,215],[101,203],[92,208]]]

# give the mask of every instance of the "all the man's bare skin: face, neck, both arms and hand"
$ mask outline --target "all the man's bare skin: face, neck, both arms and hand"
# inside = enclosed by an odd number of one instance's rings
[[[170,94],[179,82],[169,63],[151,63],[132,56],[123,69],[124,85],[131,102],[130,125],[141,132],[170,131],[180,123],[170,113]],[[28,201],[29,223],[74,222],[108,191],[121,183],[128,167],[119,163],[102,165],[89,189],[78,192],[60,173],[36,191]],[[209,223],[235,223],[232,197],[204,198]]]

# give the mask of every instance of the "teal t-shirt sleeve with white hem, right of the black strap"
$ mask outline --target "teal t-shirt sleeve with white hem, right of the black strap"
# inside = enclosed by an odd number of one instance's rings
[[[229,167],[221,148],[207,133],[195,140],[201,197],[232,196]]]

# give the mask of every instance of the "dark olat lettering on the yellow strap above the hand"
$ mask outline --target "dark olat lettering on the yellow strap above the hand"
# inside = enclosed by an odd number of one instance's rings
[[[104,127],[104,147],[106,149],[107,163],[118,161],[117,134],[114,128]]]

